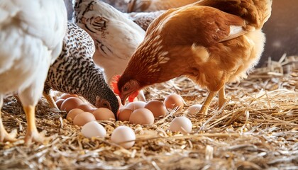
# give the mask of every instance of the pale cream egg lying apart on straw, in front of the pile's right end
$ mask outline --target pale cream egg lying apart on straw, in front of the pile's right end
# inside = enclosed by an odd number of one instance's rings
[[[169,130],[172,132],[182,132],[183,134],[187,134],[192,132],[192,121],[184,116],[176,117],[170,123]]]

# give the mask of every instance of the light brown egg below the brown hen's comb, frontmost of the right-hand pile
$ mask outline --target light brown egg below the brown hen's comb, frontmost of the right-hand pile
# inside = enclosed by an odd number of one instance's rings
[[[129,123],[152,125],[154,123],[154,115],[148,108],[138,108],[131,113]]]

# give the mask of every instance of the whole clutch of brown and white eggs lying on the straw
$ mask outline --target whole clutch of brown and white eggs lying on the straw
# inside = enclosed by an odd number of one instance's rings
[[[56,104],[60,110],[67,112],[67,120],[72,120],[74,125],[82,126],[81,132],[84,137],[105,137],[105,128],[96,120],[115,120],[114,114],[109,109],[94,108],[74,94],[62,94]],[[129,121],[132,124],[152,125],[155,118],[166,115],[167,110],[180,110],[183,106],[184,100],[181,96],[170,94],[163,102],[158,100],[152,100],[148,103],[134,101],[126,106],[121,106],[117,117],[118,120]],[[197,113],[201,107],[200,105],[191,106],[189,113]],[[184,116],[174,118],[170,123],[169,130],[187,134],[192,131],[192,122]],[[111,142],[126,149],[132,147],[135,140],[135,132],[124,125],[116,128],[111,134]]]

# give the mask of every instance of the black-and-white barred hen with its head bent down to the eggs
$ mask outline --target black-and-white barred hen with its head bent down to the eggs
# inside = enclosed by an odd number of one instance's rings
[[[49,69],[45,93],[54,89],[78,94],[97,108],[109,108],[116,118],[118,99],[92,60],[95,51],[92,38],[75,23],[67,23],[67,28],[62,52]]]

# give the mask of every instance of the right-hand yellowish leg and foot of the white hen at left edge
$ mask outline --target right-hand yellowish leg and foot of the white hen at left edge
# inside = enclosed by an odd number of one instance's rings
[[[43,136],[38,133],[35,125],[35,106],[23,106],[27,119],[27,132],[25,136],[25,143],[43,142]]]

